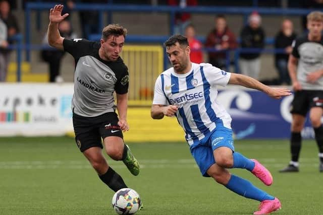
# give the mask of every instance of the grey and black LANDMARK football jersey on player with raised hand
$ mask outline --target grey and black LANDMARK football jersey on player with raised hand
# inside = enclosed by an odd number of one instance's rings
[[[99,57],[99,42],[64,39],[64,50],[75,59],[72,109],[80,116],[98,116],[114,112],[114,96],[128,93],[128,68],[121,57],[105,61]]]

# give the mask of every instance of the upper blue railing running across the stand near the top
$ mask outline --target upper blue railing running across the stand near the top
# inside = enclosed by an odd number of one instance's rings
[[[52,8],[55,3],[27,3],[25,9],[25,37],[26,44],[30,43],[30,16],[31,11],[48,11]],[[175,26],[175,13],[177,12],[188,12],[192,14],[240,14],[247,17],[252,13],[255,8],[247,7],[174,7],[174,6],[147,6],[147,5],[117,5],[117,4],[76,4],[74,11],[98,11],[99,22],[98,25],[103,27],[103,13],[104,12],[157,12],[157,13],[168,13],[170,15],[169,33],[174,33]],[[286,9],[286,8],[256,8],[261,15],[290,15],[300,16],[306,15],[311,10],[307,9]],[[110,13],[111,14],[111,13]],[[110,20],[111,21],[111,20]],[[30,60],[29,49],[26,50],[26,60]]]

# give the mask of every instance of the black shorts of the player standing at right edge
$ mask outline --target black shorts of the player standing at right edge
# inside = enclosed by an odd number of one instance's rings
[[[306,116],[308,109],[312,107],[323,108],[322,90],[301,90],[294,93],[291,113]]]

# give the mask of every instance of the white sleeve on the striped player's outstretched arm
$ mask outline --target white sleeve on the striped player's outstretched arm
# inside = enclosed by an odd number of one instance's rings
[[[201,65],[203,74],[210,85],[220,85],[222,87],[228,85],[231,73],[209,63],[201,63]]]

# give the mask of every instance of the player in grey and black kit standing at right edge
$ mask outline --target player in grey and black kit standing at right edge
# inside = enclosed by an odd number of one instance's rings
[[[314,11],[307,16],[308,33],[293,42],[288,70],[295,91],[291,106],[291,161],[280,172],[299,171],[301,130],[309,109],[309,118],[314,128],[318,146],[319,171],[323,172],[323,13]]]

